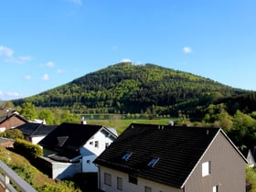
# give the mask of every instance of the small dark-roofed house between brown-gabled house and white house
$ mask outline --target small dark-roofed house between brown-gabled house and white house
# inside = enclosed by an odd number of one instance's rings
[[[20,130],[24,138],[32,144],[38,144],[48,133],[51,133],[57,125],[47,125],[44,123],[25,123],[16,127]]]

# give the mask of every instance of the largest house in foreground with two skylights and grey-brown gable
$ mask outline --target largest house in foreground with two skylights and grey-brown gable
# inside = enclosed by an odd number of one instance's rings
[[[246,159],[218,128],[132,123],[93,163],[105,192],[245,192]]]

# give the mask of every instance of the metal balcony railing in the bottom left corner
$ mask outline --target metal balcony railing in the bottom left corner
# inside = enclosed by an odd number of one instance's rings
[[[0,191],[16,192],[16,188],[22,192],[36,192],[25,180],[0,161]],[[14,187],[14,186],[16,187]]]

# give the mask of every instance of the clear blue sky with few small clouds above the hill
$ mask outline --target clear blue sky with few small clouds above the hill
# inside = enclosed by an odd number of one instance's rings
[[[256,91],[255,0],[3,0],[0,100],[123,60]]]

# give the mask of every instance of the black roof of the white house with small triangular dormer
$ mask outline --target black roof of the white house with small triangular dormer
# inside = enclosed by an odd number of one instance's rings
[[[62,123],[39,144],[57,151],[66,149],[78,151],[101,128],[101,125]]]

